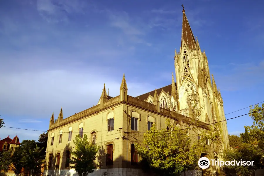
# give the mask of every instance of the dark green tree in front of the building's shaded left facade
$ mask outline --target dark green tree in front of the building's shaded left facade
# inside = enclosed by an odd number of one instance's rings
[[[86,134],[83,138],[76,135],[73,143],[75,144],[75,151],[72,151],[72,154],[75,157],[70,159],[70,163],[74,166],[70,166],[70,168],[75,169],[79,176],[87,176],[95,169],[94,160],[96,160],[97,145],[90,144]]]

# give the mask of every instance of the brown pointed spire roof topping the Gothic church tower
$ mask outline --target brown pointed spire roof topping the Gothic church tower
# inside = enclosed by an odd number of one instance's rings
[[[191,27],[189,25],[189,22],[187,20],[185,10],[182,10],[183,17],[182,17],[182,41],[181,41],[181,48],[184,43],[186,43],[189,50],[194,49],[193,47],[196,47],[196,41],[194,39],[194,35],[192,33]]]

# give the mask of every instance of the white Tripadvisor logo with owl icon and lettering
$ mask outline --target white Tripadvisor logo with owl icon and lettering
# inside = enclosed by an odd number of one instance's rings
[[[254,161],[242,161],[242,160],[232,160],[232,161],[219,161],[219,160],[211,160],[212,165],[219,167],[226,165],[226,166],[253,166]],[[202,169],[207,169],[210,166],[210,160],[206,157],[202,157],[198,160],[198,165]]]

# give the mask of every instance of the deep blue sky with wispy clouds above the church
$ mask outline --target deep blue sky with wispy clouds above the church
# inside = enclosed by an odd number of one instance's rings
[[[0,1],[0,114],[5,126],[46,131],[54,112],[64,118],[97,104],[104,83],[119,94],[171,84],[181,41],[182,7],[210,74],[230,113],[264,101],[263,1]],[[226,118],[248,113],[244,109]],[[227,121],[239,134],[250,117]],[[41,132],[1,128],[38,139]]]

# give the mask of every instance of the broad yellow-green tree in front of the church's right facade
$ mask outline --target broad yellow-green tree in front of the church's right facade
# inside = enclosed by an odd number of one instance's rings
[[[171,128],[169,121],[166,121],[166,126]],[[201,134],[201,140],[192,141],[187,130],[175,128],[173,131],[158,131],[155,127],[154,123],[148,133],[143,135],[143,144],[147,148],[137,143],[135,148],[142,157],[141,167],[160,175],[180,175],[181,172],[195,167],[199,159],[198,154],[206,150],[204,141],[214,140],[219,134],[215,130],[209,130],[209,133]]]

